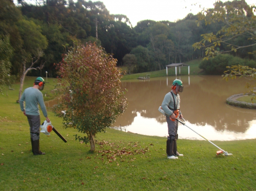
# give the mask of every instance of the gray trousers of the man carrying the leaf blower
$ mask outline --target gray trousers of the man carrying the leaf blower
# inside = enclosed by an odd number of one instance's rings
[[[29,130],[30,130],[30,138],[33,141],[39,139],[40,133],[40,115],[26,115],[28,118]]]

